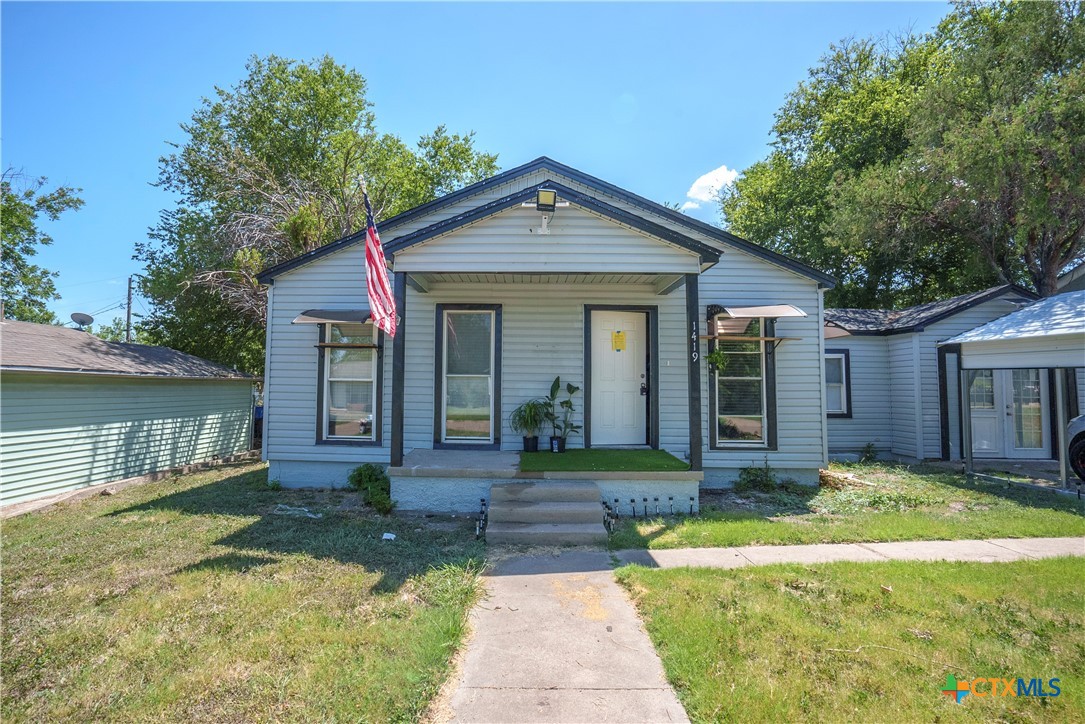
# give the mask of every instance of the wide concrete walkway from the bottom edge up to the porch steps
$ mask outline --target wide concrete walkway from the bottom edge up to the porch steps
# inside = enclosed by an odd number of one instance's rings
[[[449,706],[456,722],[686,722],[610,554],[498,563]]]

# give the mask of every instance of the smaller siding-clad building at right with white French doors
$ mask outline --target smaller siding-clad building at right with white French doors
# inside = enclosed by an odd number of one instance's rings
[[[826,309],[830,455],[872,445],[905,460],[962,459],[960,353],[942,343],[1035,299],[1005,284],[901,310]],[[1054,372],[987,369],[975,377],[969,396],[975,457],[1052,459]]]

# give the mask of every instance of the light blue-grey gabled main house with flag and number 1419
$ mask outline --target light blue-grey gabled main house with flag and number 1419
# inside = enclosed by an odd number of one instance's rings
[[[342,485],[376,462],[405,507],[477,509],[477,486],[397,471],[520,449],[511,411],[560,376],[582,388],[571,447],[668,450],[706,485],[765,461],[816,482],[825,274],[545,157],[379,228],[394,340],[367,323],[362,233],[260,275],[271,480]],[[729,373],[704,361],[717,344]]]

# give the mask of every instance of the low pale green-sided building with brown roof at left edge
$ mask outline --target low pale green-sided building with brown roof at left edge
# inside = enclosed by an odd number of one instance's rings
[[[0,504],[248,449],[253,382],[166,347],[0,321]]]

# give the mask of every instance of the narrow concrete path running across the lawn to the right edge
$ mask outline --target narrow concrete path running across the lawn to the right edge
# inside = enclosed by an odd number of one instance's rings
[[[981,563],[1056,556],[1085,556],[1085,537],[992,538],[988,541],[907,541],[902,543],[827,543],[805,546],[740,546],[620,550],[622,563],[650,568],[743,568],[768,563],[831,563],[881,560],[947,560]]]

